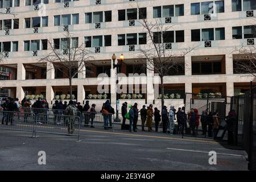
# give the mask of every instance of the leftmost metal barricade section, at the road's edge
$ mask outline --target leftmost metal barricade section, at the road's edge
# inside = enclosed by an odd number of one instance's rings
[[[0,129],[30,132],[35,131],[34,113],[0,110],[0,119]]]

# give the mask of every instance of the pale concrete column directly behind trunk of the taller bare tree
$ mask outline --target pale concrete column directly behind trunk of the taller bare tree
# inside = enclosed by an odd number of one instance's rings
[[[150,61],[147,60],[147,105],[153,104],[154,101],[154,71],[150,69],[152,66],[150,65]],[[159,78],[159,77],[158,77]],[[159,89],[159,88],[156,88]],[[157,97],[157,96],[156,96]]]

